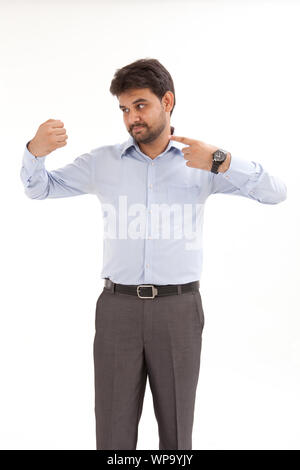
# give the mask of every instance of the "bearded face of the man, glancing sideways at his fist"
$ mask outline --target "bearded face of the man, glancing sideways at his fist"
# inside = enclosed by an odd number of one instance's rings
[[[162,102],[149,88],[127,90],[118,99],[125,126],[137,142],[153,142],[168,125]]]

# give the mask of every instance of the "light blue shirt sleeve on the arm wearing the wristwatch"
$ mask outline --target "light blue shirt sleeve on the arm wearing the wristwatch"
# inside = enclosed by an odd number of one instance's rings
[[[223,193],[244,196],[262,204],[278,204],[287,197],[283,181],[268,173],[260,163],[231,156],[230,167],[224,173],[211,173],[210,194]]]

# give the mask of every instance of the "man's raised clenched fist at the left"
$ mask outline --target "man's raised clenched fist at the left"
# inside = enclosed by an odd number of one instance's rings
[[[67,145],[64,123],[55,119],[43,122],[27,148],[35,157],[44,157],[59,147]]]

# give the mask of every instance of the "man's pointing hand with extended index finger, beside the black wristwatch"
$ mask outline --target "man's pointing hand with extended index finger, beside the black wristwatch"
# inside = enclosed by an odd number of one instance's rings
[[[178,137],[175,135],[169,135],[170,140],[176,140],[187,144],[188,147],[183,147],[184,158],[187,160],[186,165],[191,168],[199,168],[201,170],[210,171],[212,167],[212,154],[218,150],[219,147],[214,145],[206,144],[201,140],[190,139],[188,137]],[[228,170],[231,161],[231,154],[228,152],[226,160],[219,166],[218,172],[225,172]]]

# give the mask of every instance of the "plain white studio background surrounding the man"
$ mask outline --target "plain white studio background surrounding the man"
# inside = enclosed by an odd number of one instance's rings
[[[50,118],[69,139],[49,171],[125,141],[110,82],[151,57],[173,77],[177,135],[260,162],[288,188],[278,205],[222,194],[206,203],[193,449],[299,449],[300,2],[0,6],[0,448],[95,449],[101,206],[92,195],[31,200],[19,174]],[[149,383],[137,449],[158,449]]]

